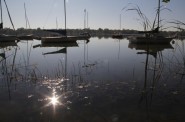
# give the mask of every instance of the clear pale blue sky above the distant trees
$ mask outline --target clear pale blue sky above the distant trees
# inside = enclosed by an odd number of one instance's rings
[[[26,28],[24,3],[30,28],[65,28],[64,0],[6,0],[6,2],[16,29]],[[175,20],[185,23],[183,14],[185,0],[170,0],[169,3],[161,4],[171,10],[161,11],[162,25],[170,27],[168,22]],[[4,0],[2,0],[2,5],[4,27],[12,28]],[[84,10],[86,9],[88,27],[91,29],[120,29],[121,15],[121,29],[143,30],[142,20],[136,11],[128,10],[136,5],[152,23],[158,0],[66,0],[66,26],[69,29],[83,29]]]

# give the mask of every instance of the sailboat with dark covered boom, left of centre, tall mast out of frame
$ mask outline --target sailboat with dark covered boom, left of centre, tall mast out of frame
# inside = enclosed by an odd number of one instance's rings
[[[73,43],[77,40],[88,40],[90,38],[90,34],[86,35],[79,35],[79,36],[67,36],[67,30],[66,30],[66,0],[64,0],[64,15],[65,15],[65,30],[44,30],[44,31],[50,31],[50,32],[56,32],[59,34],[62,34],[62,36],[55,36],[55,37],[42,37],[41,41],[42,43]]]

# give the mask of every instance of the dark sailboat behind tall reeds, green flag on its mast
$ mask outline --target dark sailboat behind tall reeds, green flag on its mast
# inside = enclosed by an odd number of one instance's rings
[[[169,0],[167,0],[169,1]],[[129,37],[129,42],[134,44],[170,44],[172,41],[172,37],[164,37],[159,32],[159,23],[160,23],[160,2],[158,3],[158,10],[157,10],[157,28],[152,29],[151,31],[141,31],[139,33],[143,34],[142,36],[131,36]],[[163,2],[166,2],[163,0]]]

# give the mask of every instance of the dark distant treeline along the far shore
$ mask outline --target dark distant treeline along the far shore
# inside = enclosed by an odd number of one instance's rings
[[[78,36],[79,34],[83,32],[88,32],[91,34],[91,36],[97,36],[97,37],[110,37],[113,34],[138,34],[137,30],[110,30],[110,29],[102,29],[99,28],[97,30],[95,29],[67,29],[67,35],[71,36]],[[179,36],[185,36],[185,31],[163,31],[164,35],[174,35],[178,34]],[[24,28],[18,28],[17,30],[13,30],[10,28],[4,28],[0,30],[0,34],[9,34],[9,35],[27,35],[27,34],[33,34],[35,36],[57,36],[57,33],[47,32],[43,31],[40,28],[37,29],[24,29]]]

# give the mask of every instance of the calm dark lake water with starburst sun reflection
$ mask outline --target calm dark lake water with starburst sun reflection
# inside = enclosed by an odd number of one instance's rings
[[[3,44],[0,122],[183,122],[184,43]]]

